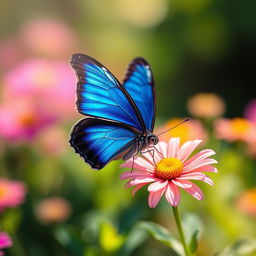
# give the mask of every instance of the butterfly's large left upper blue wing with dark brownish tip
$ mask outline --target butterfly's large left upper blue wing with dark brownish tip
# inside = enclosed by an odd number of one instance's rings
[[[141,132],[146,131],[137,106],[108,69],[83,54],[74,54],[71,65],[78,78],[76,105],[81,114],[121,122]]]

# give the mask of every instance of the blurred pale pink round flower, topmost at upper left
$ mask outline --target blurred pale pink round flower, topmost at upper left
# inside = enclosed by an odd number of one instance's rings
[[[31,20],[22,27],[19,40],[29,52],[49,57],[67,57],[76,45],[74,31],[54,19]]]

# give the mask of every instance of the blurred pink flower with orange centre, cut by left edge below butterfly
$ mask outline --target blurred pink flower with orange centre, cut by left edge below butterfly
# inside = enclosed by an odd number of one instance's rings
[[[20,181],[0,178],[0,212],[23,203],[26,186]]]

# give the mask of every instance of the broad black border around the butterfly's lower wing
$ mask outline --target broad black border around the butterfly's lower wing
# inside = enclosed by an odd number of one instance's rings
[[[86,154],[84,154],[83,152],[82,152],[82,150],[80,150],[79,149],[79,147],[76,145],[76,143],[75,143],[75,138],[74,138],[74,134],[76,133],[76,134],[80,134],[81,135],[81,131],[80,131],[80,129],[81,129],[81,123],[82,122],[86,122],[86,121],[88,121],[88,122],[95,122],[95,124],[97,124],[97,123],[106,123],[106,124],[115,124],[115,125],[119,125],[120,127],[123,127],[123,128],[126,128],[126,129],[128,129],[128,130],[131,130],[132,132],[134,132],[135,134],[137,133],[138,134],[138,130],[136,129],[136,128],[134,128],[134,127],[131,127],[131,126],[127,126],[127,125],[125,125],[125,124],[122,124],[122,123],[118,123],[118,122],[114,122],[114,121],[109,121],[109,120],[105,120],[105,119],[101,119],[101,118],[92,118],[92,117],[86,117],[86,118],[83,118],[83,119],[80,119],[76,124],[74,124],[74,126],[72,127],[72,129],[71,129],[71,132],[70,132],[70,139],[69,139],[69,144],[70,144],[70,146],[72,146],[73,148],[74,148],[74,150],[75,150],[75,152],[77,153],[77,154],[79,154],[79,156],[81,157],[81,158],[83,158],[84,159],[84,161],[86,162],[86,163],[88,163],[90,166],[91,166],[91,168],[92,169],[94,169],[94,170],[100,170],[100,169],[102,169],[103,167],[105,167],[110,161],[112,161],[117,155],[119,155],[120,153],[122,153],[123,151],[125,151],[127,148],[129,148],[134,142],[135,142],[135,140],[136,140],[136,138],[133,140],[133,141],[131,141],[129,144],[127,144],[127,145],[125,145],[124,147],[122,147],[119,151],[117,151],[116,152],[116,154],[111,158],[111,159],[109,159],[109,161],[106,163],[106,164],[104,164],[104,165],[99,165],[99,164],[95,164],[93,161],[91,161],[87,156],[86,156]]]

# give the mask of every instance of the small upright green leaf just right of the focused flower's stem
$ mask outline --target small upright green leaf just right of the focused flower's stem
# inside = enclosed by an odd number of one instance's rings
[[[198,247],[198,241],[202,236],[204,225],[200,218],[195,214],[186,214],[182,219],[182,226],[185,239],[189,245],[191,253],[195,253]]]

